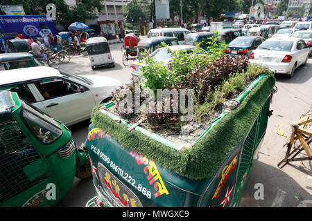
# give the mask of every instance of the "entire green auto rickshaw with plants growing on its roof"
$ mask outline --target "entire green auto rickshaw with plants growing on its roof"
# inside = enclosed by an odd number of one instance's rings
[[[211,41],[144,59],[142,80],[92,112],[86,139],[105,206],[239,206],[266,133],[275,77]]]

